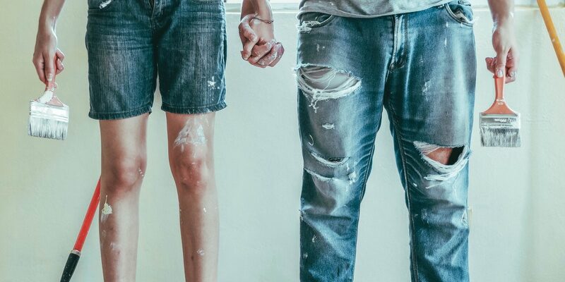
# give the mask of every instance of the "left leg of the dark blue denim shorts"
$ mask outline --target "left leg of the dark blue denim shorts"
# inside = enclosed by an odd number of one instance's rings
[[[106,3],[89,1],[89,115],[116,119],[145,114],[153,104],[156,78],[147,10],[141,1]]]

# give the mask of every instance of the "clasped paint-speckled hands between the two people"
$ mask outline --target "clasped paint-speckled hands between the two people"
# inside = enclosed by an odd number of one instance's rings
[[[285,54],[283,44],[275,40],[270,19],[258,18],[256,14],[242,17],[239,23],[239,38],[242,39],[242,59],[259,68],[275,66]]]

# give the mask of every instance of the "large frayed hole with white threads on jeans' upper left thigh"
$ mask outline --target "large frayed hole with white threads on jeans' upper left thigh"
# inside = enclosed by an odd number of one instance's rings
[[[325,66],[300,66],[296,69],[298,87],[314,112],[319,101],[339,99],[352,94],[361,86],[361,80],[352,75]]]

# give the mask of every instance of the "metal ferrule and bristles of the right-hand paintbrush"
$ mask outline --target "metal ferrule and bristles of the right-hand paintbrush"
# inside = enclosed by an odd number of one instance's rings
[[[520,114],[481,114],[483,147],[520,147]]]

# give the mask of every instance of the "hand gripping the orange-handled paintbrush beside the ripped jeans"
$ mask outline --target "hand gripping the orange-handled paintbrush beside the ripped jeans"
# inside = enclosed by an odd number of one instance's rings
[[[492,47],[496,51],[496,57],[486,58],[487,69],[499,78],[506,75],[506,83],[515,81],[520,58],[511,18],[503,22],[494,22]]]

